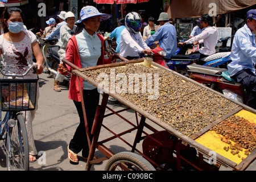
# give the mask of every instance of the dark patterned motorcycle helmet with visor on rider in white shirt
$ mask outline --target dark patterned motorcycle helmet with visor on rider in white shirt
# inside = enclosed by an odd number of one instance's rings
[[[141,15],[136,12],[128,13],[125,16],[125,27],[127,30],[129,30],[129,32],[138,34],[142,27]]]

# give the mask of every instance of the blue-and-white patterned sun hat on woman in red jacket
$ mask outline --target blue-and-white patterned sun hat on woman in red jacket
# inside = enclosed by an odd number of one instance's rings
[[[96,7],[94,6],[85,6],[80,11],[80,20],[78,20],[78,23],[81,23],[82,20],[85,20],[87,18],[93,17],[93,16],[101,16],[101,21],[108,20],[109,18],[112,18],[112,15],[100,13]]]

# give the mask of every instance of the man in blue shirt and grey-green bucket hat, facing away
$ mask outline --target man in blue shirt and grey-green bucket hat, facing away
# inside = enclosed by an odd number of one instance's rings
[[[170,59],[171,56],[175,55],[177,48],[177,38],[176,38],[176,29],[169,23],[169,17],[167,13],[160,13],[159,19],[160,27],[151,35],[150,38],[145,40],[146,44],[150,44],[156,41],[159,41],[159,47],[163,48],[166,51],[165,59]]]

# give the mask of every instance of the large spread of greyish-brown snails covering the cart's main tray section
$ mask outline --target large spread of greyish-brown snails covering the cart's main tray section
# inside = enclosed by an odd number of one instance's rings
[[[188,137],[238,107],[170,71],[143,64],[95,69],[84,74],[99,83],[104,78],[106,82],[102,85],[109,90],[114,86],[119,96]],[[131,81],[136,76],[137,81]]]

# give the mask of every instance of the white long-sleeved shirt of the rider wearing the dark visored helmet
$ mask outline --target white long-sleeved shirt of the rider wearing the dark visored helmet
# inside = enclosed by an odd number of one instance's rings
[[[143,42],[141,33],[131,34],[127,28],[123,29],[120,38],[120,56],[138,57],[143,49],[150,49]]]

